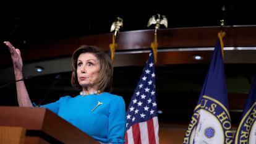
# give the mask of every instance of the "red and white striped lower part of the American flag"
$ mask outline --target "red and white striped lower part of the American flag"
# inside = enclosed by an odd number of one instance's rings
[[[159,144],[158,117],[134,124],[126,131],[125,144]]]

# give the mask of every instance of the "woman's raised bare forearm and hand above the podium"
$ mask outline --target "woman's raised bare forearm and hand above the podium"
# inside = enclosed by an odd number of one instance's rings
[[[11,52],[12,62],[14,64],[15,80],[20,80],[23,78],[23,75],[22,75],[23,63],[22,63],[22,57],[20,55],[20,50],[15,49],[14,46],[12,46],[12,44],[9,41],[4,41],[4,44],[8,46]],[[19,106],[32,107],[32,103],[28,96],[28,91],[23,80],[16,82],[16,89],[17,89]]]

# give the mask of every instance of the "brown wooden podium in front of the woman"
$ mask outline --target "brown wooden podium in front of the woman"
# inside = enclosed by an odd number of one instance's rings
[[[4,143],[1,140],[3,135],[10,137],[17,133],[20,133],[20,137],[16,138],[20,144],[99,143],[46,108],[0,106],[0,143]]]

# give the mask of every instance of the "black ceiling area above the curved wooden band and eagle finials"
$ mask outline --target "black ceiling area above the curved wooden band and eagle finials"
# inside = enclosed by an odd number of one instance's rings
[[[152,15],[165,15],[168,28],[255,25],[250,1],[5,1],[0,6],[0,40],[31,44],[70,36],[109,33],[116,17],[124,20],[121,32],[147,27]],[[223,6],[225,7],[223,9]]]

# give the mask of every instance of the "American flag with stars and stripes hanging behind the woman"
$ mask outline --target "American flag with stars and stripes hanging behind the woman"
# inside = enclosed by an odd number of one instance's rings
[[[159,143],[155,62],[151,51],[126,112],[126,144]]]

